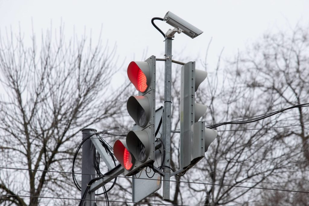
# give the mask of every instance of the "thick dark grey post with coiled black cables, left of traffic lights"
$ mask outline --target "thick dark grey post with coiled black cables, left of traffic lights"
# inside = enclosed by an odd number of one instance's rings
[[[88,138],[92,134],[96,133],[96,129],[83,129],[83,140],[85,138]],[[91,136],[92,137],[92,136]],[[84,143],[82,147],[82,195],[86,191],[87,184],[90,182],[91,179],[95,178],[95,166],[93,164],[93,150],[92,150],[92,142],[90,138],[88,138]],[[89,175],[93,174],[93,175]],[[84,206],[94,206],[95,205],[95,191],[87,192],[86,196],[84,197],[86,199],[84,201]]]

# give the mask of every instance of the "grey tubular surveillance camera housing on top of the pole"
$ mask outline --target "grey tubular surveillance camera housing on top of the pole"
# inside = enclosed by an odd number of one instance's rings
[[[192,24],[186,22],[184,19],[181,19],[179,16],[173,14],[172,12],[168,11],[164,16],[164,20],[169,25],[180,28],[187,36],[190,36],[192,39],[203,33],[200,29],[193,26]]]

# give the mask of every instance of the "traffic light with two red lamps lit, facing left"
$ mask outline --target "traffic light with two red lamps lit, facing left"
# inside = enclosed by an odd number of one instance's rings
[[[138,90],[138,96],[127,101],[128,113],[136,126],[125,140],[114,144],[115,157],[125,168],[125,176],[138,173],[155,159],[155,61],[155,56],[132,61],[127,69],[129,80]]]

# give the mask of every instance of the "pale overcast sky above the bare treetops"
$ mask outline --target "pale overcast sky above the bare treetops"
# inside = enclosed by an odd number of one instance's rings
[[[37,34],[50,27],[65,24],[66,38],[73,28],[78,35],[86,33],[97,39],[103,25],[102,39],[112,48],[116,43],[120,62],[142,60],[151,55],[163,58],[163,36],[151,25],[151,18],[163,18],[167,11],[204,31],[191,39],[176,34],[173,41],[173,58],[203,59],[210,39],[212,43],[208,61],[214,66],[220,50],[223,57],[237,53],[237,49],[254,42],[265,32],[288,31],[297,23],[308,25],[309,1],[72,1],[72,0],[0,0],[0,29],[18,25],[25,38],[30,36],[31,22]],[[167,32],[171,26],[155,21]],[[29,38],[30,39],[30,38]],[[191,58],[191,59],[190,59]]]

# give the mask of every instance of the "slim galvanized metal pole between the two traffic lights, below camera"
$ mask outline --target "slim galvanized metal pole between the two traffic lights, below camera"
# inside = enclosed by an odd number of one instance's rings
[[[170,158],[171,158],[171,69],[172,69],[172,39],[165,38],[165,76],[164,76],[164,113],[163,142],[165,145],[165,160],[163,167],[163,200],[170,199]]]

